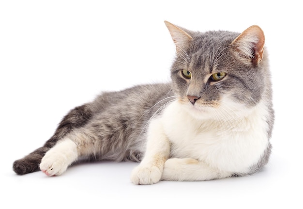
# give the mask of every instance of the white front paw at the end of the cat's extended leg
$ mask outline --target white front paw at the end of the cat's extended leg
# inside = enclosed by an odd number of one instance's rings
[[[132,171],[131,174],[131,181],[134,184],[154,184],[160,181],[160,178],[162,176],[162,170],[158,168],[157,166],[144,166],[139,165]]]

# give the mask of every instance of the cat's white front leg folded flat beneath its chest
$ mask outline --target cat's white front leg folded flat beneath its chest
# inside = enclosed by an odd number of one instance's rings
[[[203,181],[231,177],[232,174],[212,168],[203,161],[172,158],[165,162],[161,180]]]

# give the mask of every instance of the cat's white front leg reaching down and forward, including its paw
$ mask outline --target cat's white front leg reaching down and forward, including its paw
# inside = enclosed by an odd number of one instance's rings
[[[147,137],[146,152],[141,163],[132,171],[134,184],[154,184],[160,181],[170,144],[161,123],[152,120]]]

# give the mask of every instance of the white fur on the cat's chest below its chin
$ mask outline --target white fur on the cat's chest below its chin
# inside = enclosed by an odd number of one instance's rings
[[[247,172],[268,146],[263,106],[243,118],[220,121],[197,119],[178,101],[171,103],[159,118],[171,142],[171,158],[192,158],[219,170]]]

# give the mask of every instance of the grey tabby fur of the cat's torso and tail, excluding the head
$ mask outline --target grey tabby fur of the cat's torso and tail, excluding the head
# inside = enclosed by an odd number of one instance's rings
[[[149,119],[161,113],[161,107],[171,101],[170,84],[141,85],[120,92],[106,92],[91,103],[68,113],[54,136],[13,164],[16,174],[39,171],[41,159],[51,147],[65,136],[75,132],[91,139],[90,154],[84,160],[140,161],[144,150],[146,125]],[[87,142],[78,146],[86,146]]]

